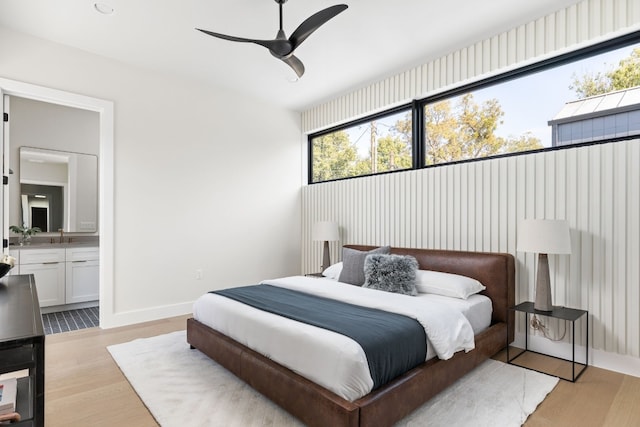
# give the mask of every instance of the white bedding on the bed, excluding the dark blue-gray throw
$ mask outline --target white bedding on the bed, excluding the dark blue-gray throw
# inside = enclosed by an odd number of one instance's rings
[[[473,335],[491,322],[491,301],[419,294],[411,297],[302,276],[265,284],[380,308],[418,320],[427,334],[427,359],[450,358],[474,348]],[[205,294],[193,307],[194,318],[292,371],[354,401],[373,386],[362,348],[352,339],[322,328],[255,309],[216,294]],[[274,332],[277,330],[277,333]]]

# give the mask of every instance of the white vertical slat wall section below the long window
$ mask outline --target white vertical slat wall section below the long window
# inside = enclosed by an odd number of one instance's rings
[[[640,140],[315,184],[302,189],[303,270],[319,271],[313,222],[347,243],[507,252],[516,301],[532,300],[536,255],[516,251],[524,218],[566,219],[572,254],[549,255],[553,301],[589,310],[593,347],[640,355]]]

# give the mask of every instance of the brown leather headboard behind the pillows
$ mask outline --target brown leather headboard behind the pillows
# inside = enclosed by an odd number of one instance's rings
[[[345,245],[347,248],[367,251],[377,246]],[[421,270],[472,277],[487,287],[482,293],[493,301],[492,323],[511,322],[509,307],[515,305],[515,260],[507,253],[447,251],[440,249],[391,248],[392,254],[411,255],[418,260]]]

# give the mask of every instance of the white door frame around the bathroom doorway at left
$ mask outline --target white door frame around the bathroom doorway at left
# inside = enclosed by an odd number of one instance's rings
[[[100,235],[100,327],[115,324],[114,307],[114,112],[113,102],[0,77],[0,93],[67,107],[95,111],[100,115],[98,234]],[[4,97],[3,97],[4,98]],[[3,99],[4,102],[4,99]],[[11,117],[9,117],[11,120]],[[6,141],[5,141],[6,143]],[[10,143],[10,142],[9,142]],[[5,150],[6,151],[6,150]],[[8,193],[8,192],[5,192]],[[5,201],[7,197],[4,197]],[[6,209],[5,209],[6,212]],[[6,215],[8,216],[8,215]],[[8,218],[6,219],[8,221]],[[6,222],[5,221],[5,222]],[[8,230],[6,227],[3,234]],[[7,234],[8,235],[8,234]]]

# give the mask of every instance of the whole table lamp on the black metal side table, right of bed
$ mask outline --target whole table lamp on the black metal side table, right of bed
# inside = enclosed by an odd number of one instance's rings
[[[538,254],[536,296],[533,308],[539,311],[552,311],[551,281],[549,279],[549,259],[547,254],[571,253],[569,223],[565,220],[551,219],[523,220],[518,229],[517,250]]]

